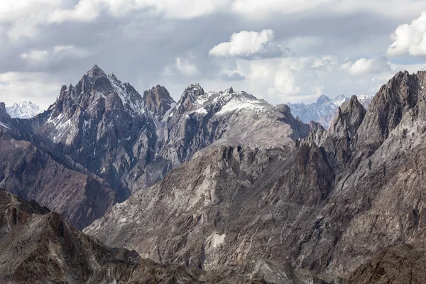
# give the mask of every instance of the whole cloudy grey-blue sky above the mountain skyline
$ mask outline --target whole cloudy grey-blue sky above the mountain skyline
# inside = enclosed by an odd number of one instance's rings
[[[426,68],[424,0],[1,0],[0,101],[43,108],[92,65],[278,104],[375,94]]]

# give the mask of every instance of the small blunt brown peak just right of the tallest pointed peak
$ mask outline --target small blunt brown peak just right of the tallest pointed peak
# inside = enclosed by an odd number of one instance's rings
[[[175,105],[168,90],[160,85],[143,92],[143,103],[146,110],[158,120],[162,120],[167,111]]]

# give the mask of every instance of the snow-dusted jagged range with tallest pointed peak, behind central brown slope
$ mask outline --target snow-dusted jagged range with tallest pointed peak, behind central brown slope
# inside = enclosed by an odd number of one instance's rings
[[[0,126],[0,186],[80,229],[207,146],[271,148],[310,131],[288,107],[246,92],[192,84],[174,102],[164,87],[141,95],[97,65],[63,86],[47,111],[31,119],[4,115]]]

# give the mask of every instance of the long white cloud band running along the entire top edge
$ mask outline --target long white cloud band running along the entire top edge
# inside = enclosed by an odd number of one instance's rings
[[[392,9],[383,9],[383,6]],[[18,40],[36,38],[42,26],[67,21],[91,22],[104,14],[126,18],[134,13],[146,13],[166,19],[191,19],[213,13],[234,13],[251,21],[263,21],[296,13],[346,15],[368,12],[405,21],[425,10],[426,2],[418,0],[2,0],[0,24],[7,27],[9,38]]]

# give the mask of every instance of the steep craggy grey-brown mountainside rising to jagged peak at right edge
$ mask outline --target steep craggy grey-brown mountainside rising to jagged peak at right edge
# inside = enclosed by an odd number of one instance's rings
[[[322,209],[325,226],[339,236],[329,266],[336,275],[348,277],[387,246],[423,247],[424,85],[422,72],[400,72],[376,94],[361,124],[354,119],[359,127],[351,139],[351,158]]]

